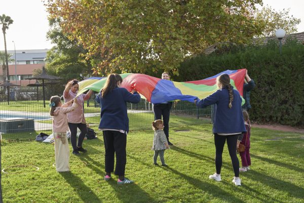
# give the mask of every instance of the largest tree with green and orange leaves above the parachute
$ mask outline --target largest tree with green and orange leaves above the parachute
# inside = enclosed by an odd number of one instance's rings
[[[185,57],[209,45],[244,43],[259,35],[262,23],[253,13],[261,2],[45,0],[66,36],[95,57],[98,74],[159,69],[178,74]]]

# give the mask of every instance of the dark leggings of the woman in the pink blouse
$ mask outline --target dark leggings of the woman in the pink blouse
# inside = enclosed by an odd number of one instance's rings
[[[82,147],[82,143],[88,132],[87,125],[85,123],[68,123],[68,127],[71,132],[71,145],[73,147],[73,150],[77,150],[77,147]],[[81,131],[78,137],[78,143],[77,143],[77,128],[79,128]]]

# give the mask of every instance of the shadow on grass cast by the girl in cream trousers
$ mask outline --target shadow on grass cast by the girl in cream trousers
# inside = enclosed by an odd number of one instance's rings
[[[71,172],[62,172],[59,174],[84,202],[102,202],[102,199],[99,199],[91,188],[86,186],[78,176],[75,176]]]

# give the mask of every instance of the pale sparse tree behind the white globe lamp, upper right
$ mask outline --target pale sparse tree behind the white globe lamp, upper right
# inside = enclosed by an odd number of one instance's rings
[[[264,29],[259,37],[275,36],[279,28],[284,29],[287,34],[297,32],[296,25],[301,20],[290,15],[289,11],[290,9],[275,11],[268,5],[261,8],[256,14],[256,18],[264,22]]]

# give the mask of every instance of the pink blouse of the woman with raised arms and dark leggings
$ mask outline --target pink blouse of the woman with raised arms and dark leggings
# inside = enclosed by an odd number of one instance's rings
[[[63,91],[64,102],[67,103],[69,100],[73,99],[77,93],[73,93],[71,90],[67,92]],[[84,102],[88,100],[90,96],[88,94],[81,94],[77,99],[77,103],[81,108],[75,109],[75,111],[67,113],[67,120],[69,123],[86,123],[85,113],[84,113]]]

